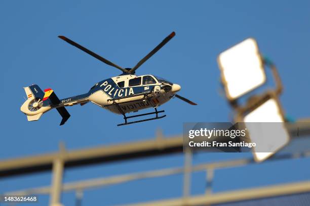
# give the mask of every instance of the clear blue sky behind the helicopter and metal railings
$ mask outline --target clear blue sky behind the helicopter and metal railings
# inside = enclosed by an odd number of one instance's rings
[[[247,37],[256,38],[261,52],[278,66],[284,84],[281,102],[286,114],[295,119],[308,117],[309,9],[307,1],[1,1],[0,159],[55,151],[59,141],[68,149],[85,148],[148,139],[158,128],[166,136],[181,134],[183,122],[230,121],[216,58]],[[133,67],[172,31],[176,36],[143,64],[137,74],[154,74],[180,84],[179,94],[198,106],[172,99],[161,107],[167,113],[166,118],[124,127],[116,126],[123,121],[122,116],[93,104],[68,108],[71,118],[62,127],[56,111],[44,114],[37,122],[27,122],[20,112],[24,86],[35,83],[42,89],[51,87],[59,98],[64,98],[85,93],[94,83],[120,73],[57,38],[58,35],[67,36],[122,67]],[[245,154],[197,156],[198,162],[204,162]],[[288,176],[291,170],[283,175],[278,175],[279,171],[294,166],[300,179],[310,178],[302,172],[304,161],[249,168],[255,174],[268,171],[278,177],[266,181],[259,176],[258,185],[295,181]],[[115,163],[69,170],[64,181],[182,164],[182,155]],[[226,172],[250,178],[237,169]],[[205,186],[204,174],[195,175],[202,180],[193,186],[193,191],[199,193]],[[221,172],[215,176],[218,191],[231,188],[225,184],[228,180],[220,178],[224,176]],[[248,182],[244,180],[238,185],[250,187]],[[1,179],[0,193],[49,183],[49,173]],[[229,185],[234,184],[237,183]],[[91,204],[102,196],[102,204],[111,205],[175,197],[181,194],[181,185],[182,176],[143,180],[86,192],[84,201]],[[42,197],[42,205],[47,199]],[[73,205],[74,194],[65,194],[63,200],[66,205]]]

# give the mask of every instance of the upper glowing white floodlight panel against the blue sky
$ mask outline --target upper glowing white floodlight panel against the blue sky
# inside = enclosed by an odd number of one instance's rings
[[[266,81],[263,61],[253,38],[225,50],[217,61],[228,100],[235,100]]]

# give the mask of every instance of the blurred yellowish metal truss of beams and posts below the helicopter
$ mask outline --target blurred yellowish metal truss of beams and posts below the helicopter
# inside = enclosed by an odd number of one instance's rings
[[[310,127],[299,126],[289,129],[292,137],[310,134]],[[134,205],[201,205],[214,204],[227,201],[245,200],[251,198],[261,198],[277,196],[284,194],[293,194],[310,191],[310,182],[290,183],[274,185],[268,187],[252,188],[246,190],[235,190],[221,193],[212,193],[212,180],[215,170],[245,166],[254,164],[252,159],[240,159],[232,161],[221,161],[201,165],[191,164],[191,151],[185,151],[185,163],[181,168],[168,168],[154,170],[142,173],[125,174],[112,177],[88,179],[71,183],[62,183],[63,171],[67,168],[77,166],[89,166],[92,164],[104,164],[119,160],[131,160],[158,155],[167,155],[170,153],[180,153],[183,151],[183,137],[175,136],[164,138],[161,132],[157,137],[150,140],[130,142],[125,144],[100,146],[89,149],[66,150],[61,144],[58,152],[47,155],[32,156],[26,158],[17,158],[0,161],[0,178],[16,176],[20,174],[35,173],[40,171],[52,171],[51,186],[30,188],[21,191],[6,192],[5,194],[30,195],[30,194],[50,194],[50,205],[61,205],[60,196],[62,192],[76,191],[77,197],[81,198],[84,190],[104,187],[112,184],[121,184],[138,179],[169,176],[174,174],[184,174],[183,196],[175,199],[159,200]],[[309,156],[309,152],[290,153],[277,155],[270,159],[275,161],[287,158],[299,158],[300,156]],[[190,196],[190,173],[196,171],[206,172],[206,194],[199,196]]]

